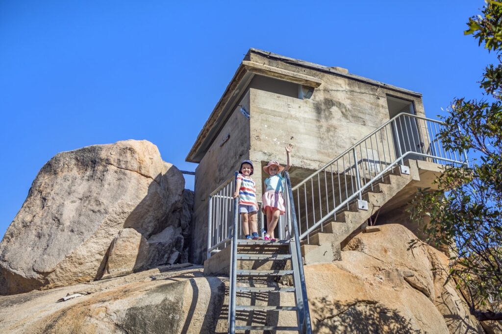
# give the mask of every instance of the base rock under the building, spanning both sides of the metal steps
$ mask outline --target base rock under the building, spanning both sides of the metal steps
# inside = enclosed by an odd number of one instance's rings
[[[315,333],[483,333],[458,291],[445,284],[447,257],[401,225],[359,234],[342,261],[305,266]],[[189,264],[187,264],[189,265]],[[71,287],[0,296],[0,332],[226,333],[228,279],[181,265]],[[291,284],[288,279],[269,286]],[[64,302],[65,295],[83,296]],[[291,305],[292,293],[237,296],[238,304]],[[247,323],[249,313],[237,317]],[[291,325],[294,312],[257,313],[258,324]]]

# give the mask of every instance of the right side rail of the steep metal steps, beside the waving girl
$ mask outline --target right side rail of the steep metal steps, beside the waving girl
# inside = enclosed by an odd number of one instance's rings
[[[293,191],[291,189],[291,179],[289,177],[289,173],[285,172],[284,173],[286,177],[286,182],[287,182],[287,188],[288,188],[288,196],[290,200],[293,198]],[[293,225],[293,236],[295,240],[295,249],[296,249],[296,254],[297,256],[297,265],[298,265],[298,271],[299,271],[299,276],[300,276],[300,286],[301,286],[301,291],[302,291],[302,296],[300,302],[303,304],[301,307],[304,310],[304,313],[302,314],[302,321],[303,323],[298,323],[300,328],[305,328],[305,333],[312,333],[312,324],[310,323],[310,310],[309,310],[309,301],[307,298],[307,286],[305,284],[305,273],[303,271],[303,261],[302,261],[302,251],[300,249],[300,235],[298,233],[298,225],[296,221],[296,212],[295,212],[295,201],[291,200],[290,201],[290,208],[291,208],[291,217],[292,217],[292,224]],[[291,242],[291,241],[290,241]],[[296,285],[296,282],[295,282]],[[302,332],[302,331],[301,331]]]

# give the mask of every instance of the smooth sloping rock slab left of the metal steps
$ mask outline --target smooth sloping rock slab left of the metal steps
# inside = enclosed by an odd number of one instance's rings
[[[0,296],[0,332],[214,333],[224,284],[200,267],[173,267]],[[73,293],[83,296],[57,302]]]

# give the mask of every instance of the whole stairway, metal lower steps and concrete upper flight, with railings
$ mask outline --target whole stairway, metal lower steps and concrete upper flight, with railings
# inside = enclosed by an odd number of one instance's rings
[[[443,123],[437,120],[401,113],[295,187],[291,187],[290,175],[285,173],[286,215],[279,221],[278,235],[282,240],[279,242],[242,240],[238,201],[232,198],[235,178],[213,191],[209,196],[207,256],[209,259],[212,254],[230,247],[228,332],[291,330],[311,333],[301,250],[304,256],[319,247],[322,254],[329,253],[329,250],[336,253],[336,248],[339,252],[340,242],[371,218],[368,209],[385,204],[410,182],[405,160],[453,165],[467,163],[465,151],[444,148],[438,136],[442,127]],[[261,221],[263,224],[263,215]],[[333,254],[332,259],[340,258]],[[286,261],[289,267],[249,268],[245,261]],[[270,280],[284,275],[292,275],[293,287],[280,287]],[[267,297],[262,299],[270,300],[273,293],[294,293],[294,305],[236,303],[238,294],[265,294]],[[295,311],[297,323],[269,325],[262,316],[260,325],[236,325],[238,312],[248,312],[240,319],[253,322],[255,312],[267,311]]]

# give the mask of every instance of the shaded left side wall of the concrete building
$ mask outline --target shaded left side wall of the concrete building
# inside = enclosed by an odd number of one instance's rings
[[[249,110],[249,92],[244,93],[238,104]],[[242,159],[249,158],[249,121],[239,109],[240,106],[235,106],[195,170],[194,221],[190,258],[192,263],[202,263],[205,259],[209,194],[233,175]]]

